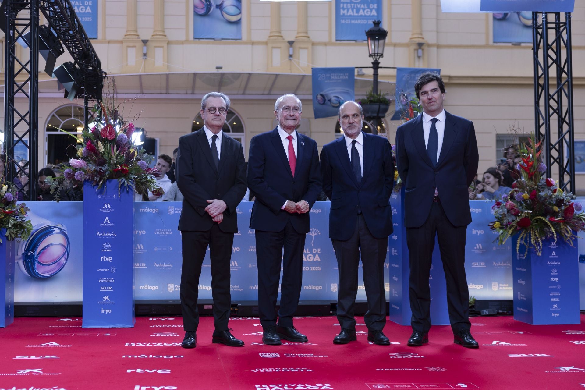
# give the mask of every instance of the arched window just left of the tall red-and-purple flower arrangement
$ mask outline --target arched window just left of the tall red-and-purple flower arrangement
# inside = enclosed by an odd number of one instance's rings
[[[45,156],[44,165],[67,163],[69,160],[66,154],[67,147],[73,145],[75,140],[67,133],[59,129],[77,134],[81,143],[83,132],[83,106],[68,104],[57,108],[47,119],[45,126]]]

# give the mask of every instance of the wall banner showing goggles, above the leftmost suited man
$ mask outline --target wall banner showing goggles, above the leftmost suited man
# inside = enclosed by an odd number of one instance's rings
[[[194,39],[242,39],[241,0],[193,0]]]

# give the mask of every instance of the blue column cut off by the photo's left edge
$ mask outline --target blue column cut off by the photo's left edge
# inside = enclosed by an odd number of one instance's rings
[[[10,325],[14,320],[14,241],[8,241],[6,229],[0,230],[0,302],[4,302],[0,327]]]

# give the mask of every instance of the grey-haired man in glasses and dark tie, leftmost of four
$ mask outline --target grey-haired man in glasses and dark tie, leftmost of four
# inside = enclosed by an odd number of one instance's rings
[[[183,240],[181,309],[185,339],[181,346],[197,343],[197,296],[201,264],[209,246],[211,293],[214,299],[214,343],[241,347],[242,340],[228,329],[231,296],[230,258],[233,233],[238,232],[236,206],[246,193],[246,168],[242,144],[222,132],[229,98],[210,92],[201,100],[205,126],[179,139],[177,185],[184,196],[179,230]]]

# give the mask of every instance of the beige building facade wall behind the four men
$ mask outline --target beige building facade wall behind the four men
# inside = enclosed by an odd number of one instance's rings
[[[216,65],[224,71],[300,73],[311,72],[311,66],[369,65],[364,42],[335,42],[334,2],[301,5],[297,2],[274,4],[259,0],[242,0],[242,40],[194,40],[192,0],[164,0],[163,15],[154,11],[156,0],[136,1],[138,39],[130,39],[127,15],[128,2],[101,0],[99,39],[93,40],[104,70],[110,74],[137,72],[209,72]],[[382,66],[441,68],[448,94],[446,109],[473,120],[480,146],[480,172],[494,164],[497,133],[506,133],[512,123],[526,131],[534,127],[531,44],[512,46],[491,42],[490,14],[442,13],[439,0],[387,0],[381,16],[389,30]],[[307,7],[309,39],[297,39],[299,10]],[[271,13],[280,9],[280,17]],[[158,18],[158,19],[157,19]],[[575,138],[585,139],[585,4],[576,2],[572,14],[573,77]],[[164,48],[164,64],[154,67],[147,59],[143,63],[142,42],[153,40],[156,23],[163,23],[166,37],[158,43]],[[420,26],[418,32],[417,26]],[[276,29],[276,35],[272,30]],[[278,35],[282,38],[279,38]],[[271,36],[271,38],[269,38]],[[4,40],[1,39],[0,44]],[[364,36],[365,39],[365,36]],[[295,66],[288,58],[287,40],[296,40],[293,58],[300,60],[300,48],[307,49],[307,64]],[[424,43],[423,56],[417,57],[416,43]],[[154,46],[149,43],[147,57],[154,58]],[[128,57],[134,47],[133,57]],[[272,64],[273,49],[280,48],[280,64]],[[58,63],[69,60],[61,56]],[[133,65],[132,65],[133,64]],[[43,65],[43,64],[42,64]],[[3,66],[3,65],[2,65]],[[364,69],[366,77],[371,70]],[[395,71],[381,70],[381,80],[395,80]],[[43,75],[41,77],[46,77]],[[139,98],[136,111],[143,110],[150,137],[160,139],[162,153],[170,154],[178,137],[190,131],[199,99]],[[200,98],[200,96],[198,96]],[[39,101],[39,128],[55,108],[68,101],[42,98]],[[233,109],[242,116],[247,144],[254,134],[271,129],[273,99],[234,99]],[[134,112],[133,112],[134,113]],[[0,115],[3,115],[0,113]],[[319,146],[335,135],[335,118],[312,118],[311,102],[305,101],[303,118],[308,119],[309,133]],[[394,139],[397,123],[391,123],[390,139]],[[44,133],[39,134],[40,164],[44,163]],[[578,178],[585,187],[585,177]]]

